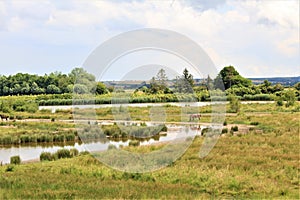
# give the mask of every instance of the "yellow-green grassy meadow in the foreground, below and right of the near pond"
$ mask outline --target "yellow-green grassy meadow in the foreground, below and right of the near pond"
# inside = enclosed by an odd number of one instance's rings
[[[263,133],[221,137],[204,159],[198,157],[203,138],[196,138],[179,160],[151,173],[115,171],[90,155],[24,164],[12,172],[2,166],[0,199],[299,199],[299,113],[247,114],[228,121],[258,121]]]

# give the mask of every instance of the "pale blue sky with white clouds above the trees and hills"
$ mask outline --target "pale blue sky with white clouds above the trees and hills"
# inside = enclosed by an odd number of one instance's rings
[[[233,65],[244,77],[300,75],[298,0],[0,0],[0,74],[69,73],[104,41],[143,28],[185,35],[217,70]],[[136,58],[115,63],[104,79],[130,77],[132,69],[124,69]],[[186,65],[169,63],[162,65]]]

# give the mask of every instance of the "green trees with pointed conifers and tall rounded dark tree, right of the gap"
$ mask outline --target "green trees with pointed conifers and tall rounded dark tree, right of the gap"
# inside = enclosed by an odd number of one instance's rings
[[[150,81],[150,85],[143,86],[136,90],[148,94],[169,94],[169,93],[214,93],[216,91],[225,92],[226,95],[243,97],[245,95],[278,94],[280,95],[286,88],[280,84],[272,85],[265,80],[262,84],[255,85],[250,79],[241,76],[233,66],[224,67],[215,79],[203,79],[200,83],[195,83],[193,75],[185,68],[181,76],[177,76],[170,84],[163,69],[160,69],[155,77]],[[300,94],[300,82],[290,88],[296,96]]]

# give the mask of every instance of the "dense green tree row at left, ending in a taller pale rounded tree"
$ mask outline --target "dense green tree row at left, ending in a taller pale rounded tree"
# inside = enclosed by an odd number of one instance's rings
[[[54,72],[43,76],[28,73],[0,75],[0,96],[73,92],[105,94],[108,91],[103,83],[96,82],[95,76],[82,68],[75,68],[69,74]]]

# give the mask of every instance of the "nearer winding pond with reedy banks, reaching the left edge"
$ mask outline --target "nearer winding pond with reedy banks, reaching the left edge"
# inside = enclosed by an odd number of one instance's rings
[[[154,145],[164,142],[170,142],[174,139],[186,139],[188,137],[194,137],[201,133],[201,129],[207,128],[207,126],[189,125],[178,126],[168,125],[168,132],[164,135],[156,135],[152,138],[143,138],[140,140],[140,145]],[[109,140],[109,142],[103,141],[90,141],[86,143],[56,143],[56,144],[34,144],[34,145],[13,145],[13,146],[0,146],[0,163],[8,164],[11,156],[19,155],[22,162],[39,161],[40,154],[42,152],[54,153],[59,149],[76,148],[79,152],[99,152],[108,149],[109,145],[114,145],[117,148],[120,146],[128,146],[130,139]]]

